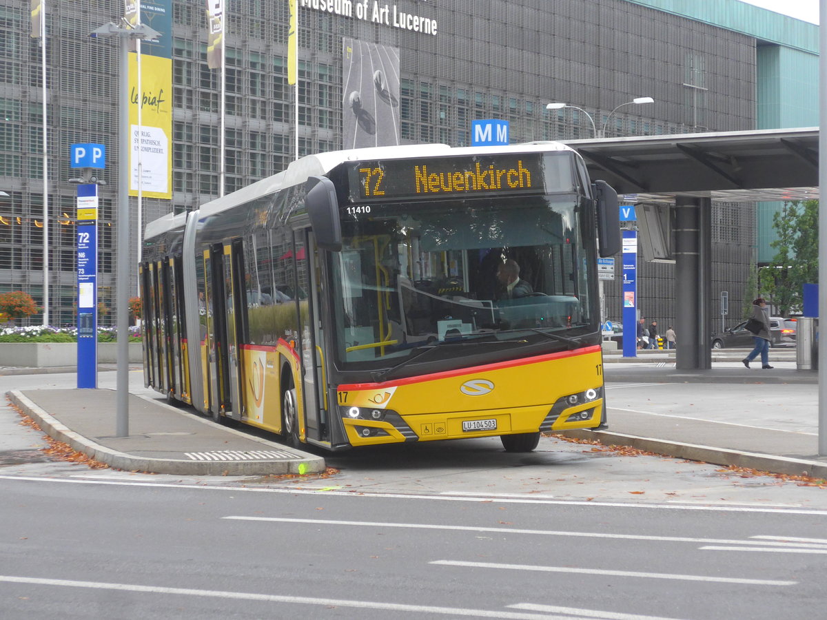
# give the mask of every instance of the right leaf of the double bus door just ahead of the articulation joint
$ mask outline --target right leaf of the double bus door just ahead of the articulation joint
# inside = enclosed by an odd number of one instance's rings
[[[227,338],[227,383],[230,388],[232,403],[230,417],[241,420],[244,412],[242,394],[244,393],[242,377],[243,352],[241,344],[247,341],[247,303],[244,270],[244,246],[241,239],[224,246],[224,291],[227,299],[225,336]]]

